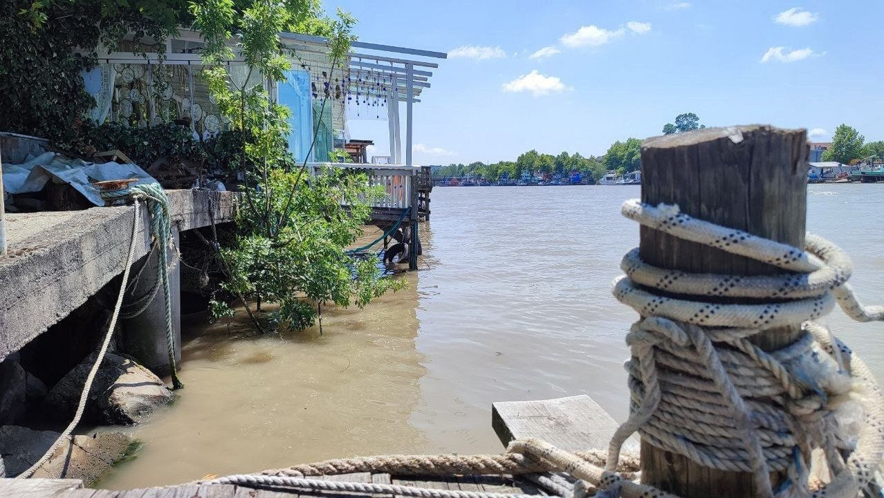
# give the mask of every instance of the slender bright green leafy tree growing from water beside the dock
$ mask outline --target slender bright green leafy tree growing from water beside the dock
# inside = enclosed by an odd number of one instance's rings
[[[245,2],[191,3],[194,26],[205,40],[203,75],[210,95],[241,138],[238,166],[244,201],[238,237],[220,251],[227,276],[221,287],[240,298],[259,329],[267,324],[301,329],[315,322],[323,303],[362,307],[403,285],[383,277],[376,259],[354,258],[346,250],[370,218],[370,201],[381,192],[369,187],[364,174],[331,167],[308,180],[306,160],[295,164],[286,148],[290,111],[272,102],[265,89],[266,82],[286,80],[290,69],[281,31],[329,36],[331,73],[343,75],[339,61],[346,60],[354,19],[343,11],[338,19],[325,18],[316,0],[240,4]],[[233,47],[231,40],[236,41]],[[236,77],[224,64],[234,53],[244,60]],[[314,144],[319,126],[313,130]],[[258,311],[268,302],[278,303],[278,309],[266,318],[256,317],[249,301]],[[220,301],[213,300],[211,307],[216,318],[233,314]]]

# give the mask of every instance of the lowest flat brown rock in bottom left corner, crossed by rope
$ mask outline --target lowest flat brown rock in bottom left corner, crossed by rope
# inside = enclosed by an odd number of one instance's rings
[[[27,471],[59,435],[55,431],[34,431],[18,425],[0,427],[0,455],[4,456],[5,477],[15,477]],[[123,433],[69,437],[34,473],[34,478],[83,479],[83,482],[91,483],[126,456],[132,443],[132,439]]]

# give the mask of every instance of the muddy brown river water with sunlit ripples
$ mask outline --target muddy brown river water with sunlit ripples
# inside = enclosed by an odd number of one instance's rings
[[[129,429],[144,445],[98,487],[146,487],[338,456],[499,452],[491,403],[591,395],[625,418],[635,313],[610,283],[638,227],[637,187],[436,188],[421,271],[324,334],[187,327],[178,400]],[[812,185],[808,229],[846,249],[884,300],[884,186]],[[884,379],[884,324],[825,320]]]

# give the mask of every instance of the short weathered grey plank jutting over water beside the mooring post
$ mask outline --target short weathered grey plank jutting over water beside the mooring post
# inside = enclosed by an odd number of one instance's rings
[[[537,438],[568,451],[606,449],[617,422],[587,395],[530,402],[492,403],[492,427],[500,442]],[[624,447],[637,448],[635,441]]]

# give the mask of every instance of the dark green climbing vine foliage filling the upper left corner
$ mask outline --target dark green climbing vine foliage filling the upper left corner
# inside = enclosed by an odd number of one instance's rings
[[[7,0],[0,2],[0,130],[70,140],[95,101],[80,78],[96,48],[125,34],[164,50],[189,16],[184,0]],[[77,52],[75,53],[75,50]]]

